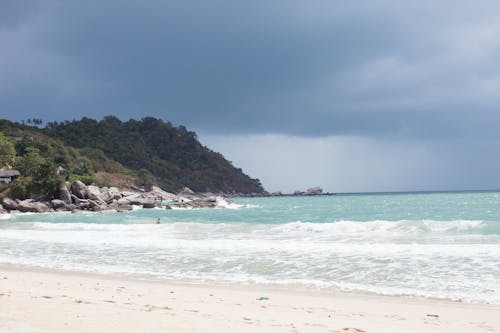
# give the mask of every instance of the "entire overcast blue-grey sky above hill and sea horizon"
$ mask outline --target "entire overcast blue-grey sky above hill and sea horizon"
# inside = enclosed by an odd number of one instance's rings
[[[145,116],[269,191],[500,188],[500,2],[3,0],[0,117]]]

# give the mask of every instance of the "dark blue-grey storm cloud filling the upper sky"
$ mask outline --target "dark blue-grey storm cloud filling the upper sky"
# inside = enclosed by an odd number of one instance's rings
[[[494,1],[9,4],[12,15],[0,19],[16,19],[0,30],[0,108],[10,118],[156,115],[211,133],[498,135]]]

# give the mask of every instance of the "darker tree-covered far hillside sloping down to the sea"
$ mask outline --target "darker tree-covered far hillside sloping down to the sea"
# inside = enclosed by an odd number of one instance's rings
[[[169,191],[187,186],[199,192],[264,192],[258,179],[201,145],[194,132],[161,119],[83,118],[48,123],[42,132],[80,152],[102,152]]]

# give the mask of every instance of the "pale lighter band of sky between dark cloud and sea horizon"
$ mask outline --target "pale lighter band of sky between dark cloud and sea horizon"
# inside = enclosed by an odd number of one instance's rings
[[[269,191],[498,189],[500,140],[394,141],[359,136],[203,135]]]

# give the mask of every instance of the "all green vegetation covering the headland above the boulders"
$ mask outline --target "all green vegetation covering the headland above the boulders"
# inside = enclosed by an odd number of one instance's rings
[[[185,186],[199,192],[264,192],[258,179],[201,145],[194,132],[161,119],[122,122],[107,116],[45,128],[0,120],[0,148],[2,166],[21,171],[11,186],[18,197],[51,195],[62,181],[75,179],[106,186],[158,184],[173,192]]]

